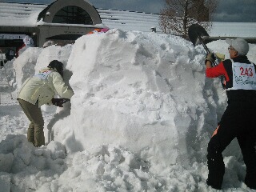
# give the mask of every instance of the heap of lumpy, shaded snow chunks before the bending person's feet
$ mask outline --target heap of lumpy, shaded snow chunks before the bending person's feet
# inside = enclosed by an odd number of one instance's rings
[[[66,170],[65,158],[65,146],[59,142],[35,148],[26,136],[9,134],[0,143],[1,190],[36,190]]]

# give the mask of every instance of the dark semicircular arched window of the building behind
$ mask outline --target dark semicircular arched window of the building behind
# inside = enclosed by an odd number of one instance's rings
[[[53,23],[93,25],[90,15],[78,6],[65,6],[54,15]]]

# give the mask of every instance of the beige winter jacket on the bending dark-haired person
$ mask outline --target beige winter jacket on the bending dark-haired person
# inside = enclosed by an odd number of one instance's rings
[[[55,94],[61,98],[71,98],[74,93],[65,86],[62,76],[57,71],[46,68],[40,70],[34,77],[26,79],[18,93],[18,98],[33,105],[38,101],[38,106],[42,106],[52,104],[51,99]]]

